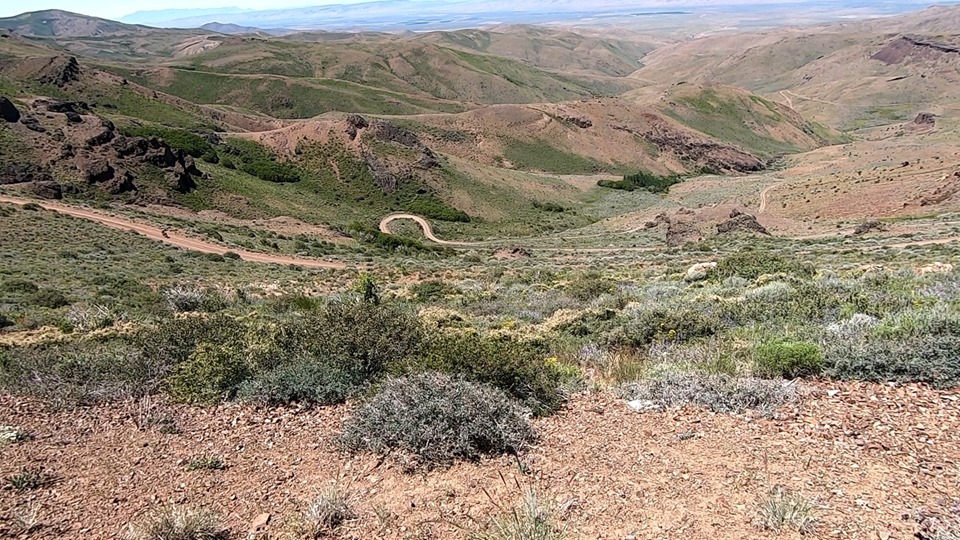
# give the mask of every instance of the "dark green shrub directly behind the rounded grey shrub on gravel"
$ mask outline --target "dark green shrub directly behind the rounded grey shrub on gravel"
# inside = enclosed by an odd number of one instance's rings
[[[535,414],[558,410],[566,400],[568,377],[546,361],[536,345],[477,334],[437,335],[426,352],[408,362],[410,371],[439,371],[497,387]]]

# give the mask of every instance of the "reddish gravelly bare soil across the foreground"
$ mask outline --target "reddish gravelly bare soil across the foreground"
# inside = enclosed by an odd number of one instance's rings
[[[818,538],[910,538],[904,516],[960,489],[960,394],[926,387],[816,382],[773,419],[699,409],[636,413],[605,394],[576,397],[537,420],[521,457],[405,474],[390,461],[342,454],[347,406],[312,410],[137,404],[53,411],[0,396],[0,424],[33,439],[0,448],[0,478],[43,467],[56,480],[0,489],[0,537],[37,510],[24,538],[118,538],[126,523],[171,502],[220,512],[235,537],[256,516],[283,538],[303,501],[331,481],[357,518],[343,538],[460,538],[533,486],[561,508],[571,538],[773,538],[758,497],[782,484],[817,499]],[[141,430],[169,417],[181,430]],[[186,470],[212,455],[223,471]],[[379,517],[378,517],[379,516]],[[782,533],[780,537],[799,537]]]

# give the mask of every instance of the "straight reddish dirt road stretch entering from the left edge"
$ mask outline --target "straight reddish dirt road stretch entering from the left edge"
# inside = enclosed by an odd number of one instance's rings
[[[242,249],[228,249],[227,247],[219,244],[205,242],[197,238],[186,236],[185,234],[173,229],[162,229],[155,225],[148,225],[146,223],[133,221],[127,218],[111,216],[95,210],[70,206],[63,203],[51,201],[33,201],[20,199],[17,197],[8,197],[6,195],[0,195],[0,202],[18,204],[21,206],[27,203],[37,204],[46,210],[95,221],[114,229],[134,231],[137,234],[141,234],[151,240],[156,240],[157,242],[163,242],[167,245],[188,249],[190,251],[197,251],[200,253],[215,253],[217,255],[223,255],[229,251],[236,253],[245,261],[257,263],[295,264],[297,266],[309,268],[328,268],[337,270],[347,267],[346,264],[339,262],[322,261],[319,259],[304,259],[300,257],[287,257],[283,255],[271,255],[269,253],[257,253],[255,251],[247,251]]]

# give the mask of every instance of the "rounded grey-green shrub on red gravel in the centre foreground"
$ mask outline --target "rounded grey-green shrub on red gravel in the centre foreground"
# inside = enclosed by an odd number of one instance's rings
[[[502,391],[436,373],[388,380],[341,435],[349,450],[400,452],[427,467],[516,453],[533,438],[524,410]]]

